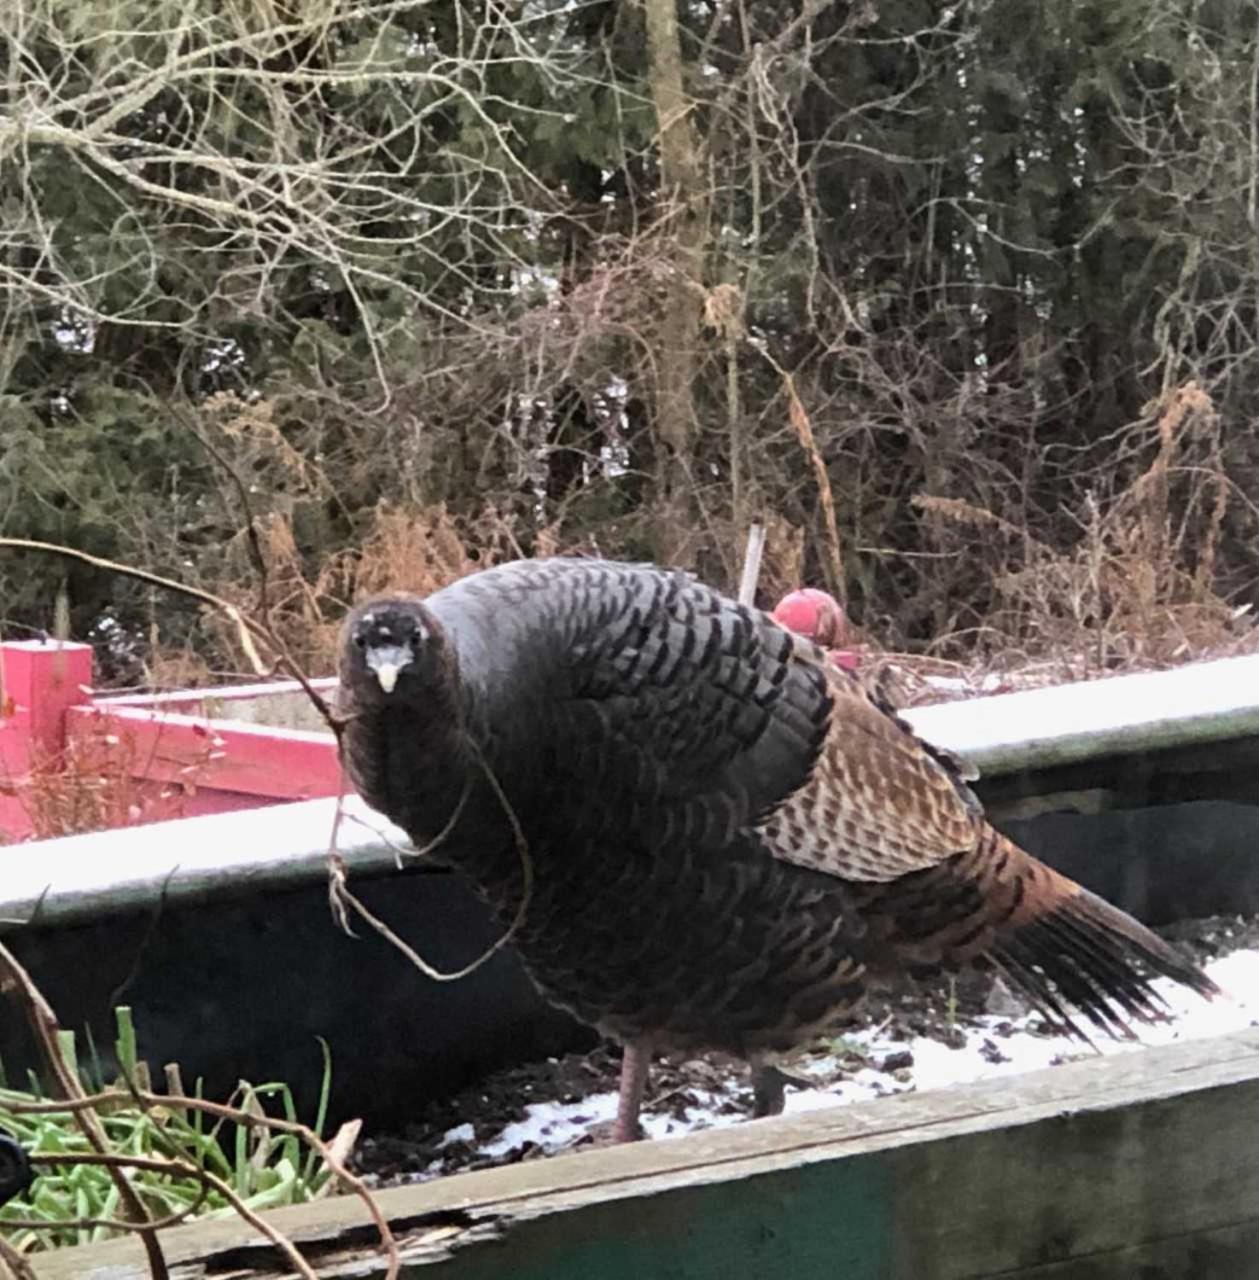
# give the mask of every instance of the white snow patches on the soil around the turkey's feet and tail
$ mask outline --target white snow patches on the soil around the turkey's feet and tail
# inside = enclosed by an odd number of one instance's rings
[[[1036,1034],[1030,1029],[1039,1023],[1035,1015],[958,1021],[965,1043],[957,1048],[929,1037],[888,1039],[879,1028],[851,1033],[842,1042],[847,1053],[810,1056],[802,1065],[791,1069],[795,1076],[818,1079],[819,1084],[788,1088],[786,1114],[867,1102],[912,1089],[939,1089],[971,1080],[1017,1075],[1094,1053],[1140,1052],[1154,1044],[1207,1039],[1259,1024],[1259,951],[1235,951],[1208,963],[1205,968],[1224,996],[1207,1001],[1168,979],[1159,979],[1154,986],[1167,1001],[1169,1020],[1141,1027],[1139,1041],[1099,1037],[1095,1050],[1066,1036]],[[841,1061],[851,1064],[853,1051],[873,1065],[856,1071],[843,1070]],[[731,1108],[732,1101],[747,1092],[743,1073],[732,1071],[715,1088],[686,1092],[693,1102],[681,1108],[681,1114],[659,1110],[661,1103],[669,1101],[667,1098],[649,1102],[644,1128],[650,1138],[676,1138],[696,1129],[722,1128],[745,1119],[742,1107]],[[526,1144],[546,1153],[563,1151],[592,1126],[609,1123],[615,1112],[617,1096],[610,1092],[594,1093],[577,1102],[532,1103],[523,1120],[481,1142],[477,1151],[487,1157],[502,1157]],[[439,1146],[468,1142],[472,1137],[471,1125],[458,1125],[445,1134]],[[438,1172],[440,1165],[439,1158],[430,1170]]]

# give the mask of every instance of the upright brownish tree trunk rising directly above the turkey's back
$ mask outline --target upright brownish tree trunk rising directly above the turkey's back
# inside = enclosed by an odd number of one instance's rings
[[[644,9],[647,77],[660,131],[660,201],[673,232],[673,278],[655,360],[656,557],[691,566],[699,549],[691,388],[699,365],[710,196],[693,104],[682,86],[677,0],[644,0]]]

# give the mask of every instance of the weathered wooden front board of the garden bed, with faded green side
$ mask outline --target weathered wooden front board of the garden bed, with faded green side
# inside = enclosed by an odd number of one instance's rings
[[[1237,1280],[1259,1238],[1256,1132],[1249,1030],[379,1199],[406,1240],[403,1275],[424,1280]],[[354,1201],[271,1221],[329,1280],[384,1274]],[[179,1280],[284,1274],[238,1221],[166,1244]],[[1155,1270],[1131,1270],[1141,1260]],[[37,1274],[146,1276],[132,1242],[50,1256]]]

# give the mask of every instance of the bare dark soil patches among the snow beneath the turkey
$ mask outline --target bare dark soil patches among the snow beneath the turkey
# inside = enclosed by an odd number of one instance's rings
[[[1242,948],[1259,947],[1259,918],[1213,916],[1187,920],[1159,931],[1205,963]],[[930,1037],[954,1046],[965,1041],[962,1027],[978,1015],[1016,1019],[1027,1012],[1026,1006],[1003,983],[984,974],[967,974],[942,988],[906,984],[880,998],[870,1000],[865,1015],[847,1029],[875,1027],[880,1041],[910,1041]],[[992,1025],[992,1024],[989,1024]],[[1033,1030],[1052,1032],[1047,1024],[1033,1023]],[[837,1038],[827,1046],[838,1057],[838,1071],[832,1080],[843,1079],[865,1068],[901,1079],[899,1073],[914,1065],[908,1048],[883,1052],[876,1061],[843,1039],[846,1028],[837,1028]],[[981,1052],[989,1061],[1003,1061],[1001,1038],[1008,1036],[1011,1023],[998,1023]],[[614,1092],[621,1066],[621,1051],[601,1046],[590,1053],[572,1053],[502,1071],[482,1080],[475,1089],[434,1103],[400,1134],[366,1138],[357,1152],[357,1167],[374,1185],[422,1181],[444,1174],[522,1160],[541,1158],[545,1152],[523,1143],[505,1155],[489,1157],[479,1147],[495,1138],[507,1125],[522,1120],[534,1102],[580,1102],[595,1093]],[[733,1091],[728,1089],[736,1082]],[[723,1089],[727,1092],[723,1094]],[[645,1111],[673,1111],[681,1116],[687,1106],[720,1094],[719,1114],[751,1116],[752,1094],[746,1071],[720,1056],[686,1060],[658,1059],[653,1064]],[[591,1116],[594,1120],[594,1116]],[[468,1140],[447,1142],[443,1138],[458,1126],[471,1125]],[[599,1128],[572,1148],[580,1149],[599,1140]]]

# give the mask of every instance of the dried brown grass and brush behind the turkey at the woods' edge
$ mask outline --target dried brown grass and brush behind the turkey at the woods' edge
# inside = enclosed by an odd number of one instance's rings
[[[613,292],[604,289],[598,298],[583,294],[592,306],[598,302],[592,315],[604,314]],[[242,449],[248,456],[256,451],[294,484],[324,492],[325,477],[284,445],[266,404],[225,399],[218,410],[218,438],[234,460],[241,460]],[[792,434],[798,434],[800,424],[793,425]],[[1249,618],[1218,586],[1226,577],[1219,562],[1231,506],[1223,444],[1212,398],[1196,383],[1186,383],[1116,433],[1112,457],[1102,458],[1093,472],[1094,488],[1080,483],[1075,506],[1049,513],[1052,518],[1045,512],[1036,516],[1004,490],[989,493],[978,474],[958,474],[953,493],[917,493],[911,500],[924,518],[914,556],[921,558],[899,562],[920,566],[905,576],[912,581],[917,575],[917,591],[871,617],[875,594],[885,591],[885,585],[870,575],[870,548],[862,549],[865,559],[853,553],[848,566],[850,575],[861,575],[857,608],[864,602],[873,632],[899,640],[902,648],[910,634],[930,636],[922,652],[896,658],[898,669],[907,673],[906,700],[939,695],[939,686],[926,678],[930,675],[952,673],[958,687],[970,690],[1012,687],[1167,666],[1247,645]],[[788,454],[797,461],[798,445],[795,442]],[[820,454],[805,452],[816,471]],[[1144,458],[1135,474],[1134,458]],[[1118,479],[1125,467],[1126,481]],[[834,518],[819,521],[807,509],[778,509],[775,483],[769,474],[748,477],[750,509],[760,512],[768,532],[763,602],[810,575],[825,575],[837,552],[830,532]],[[825,507],[816,484],[804,477],[802,483],[814,490],[815,504]],[[967,495],[957,495],[958,490]],[[856,506],[855,494],[837,489],[834,502]],[[903,511],[903,498],[899,507]],[[329,673],[339,620],[356,600],[392,590],[427,594],[526,549],[537,556],[605,549],[599,535],[569,521],[563,508],[541,525],[521,509],[502,494],[485,499],[471,515],[445,503],[381,500],[361,521],[356,545],[331,557],[303,548],[294,517],[273,509],[255,522],[267,563],[269,625],[307,671]],[[633,543],[633,518],[605,525],[612,554],[626,554],[622,544]],[[705,576],[732,579],[746,529],[736,527],[722,511],[706,518],[724,553],[705,563]],[[228,552],[230,582],[215,581],[214,586],[257,614],[262,593],[247,535],[239,535]],[[956,612],[951,612],[954,602]],[[935,621],[924,627],[921,620],[928,616]],[[919,621],[911,628],[914,618]],[[207,612],[206,627],[220,653],[233,652],[230,628],[221,618]],[[150,668],[154,682],[164,686],[209,677],[191,649],[170,652],[160,644],[154,646]]]

